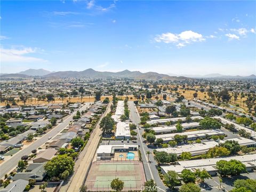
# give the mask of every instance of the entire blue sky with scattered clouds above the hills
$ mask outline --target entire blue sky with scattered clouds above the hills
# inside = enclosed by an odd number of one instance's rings
[[[1,73],[256,74],[255,1],[1,1]]]

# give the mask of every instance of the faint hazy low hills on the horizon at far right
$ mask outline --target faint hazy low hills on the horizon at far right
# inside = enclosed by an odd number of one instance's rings
[[[174,74],[169,74],[169,75],[174,75]],[[250,75],[250,76],[239,76],[239,75],[221,75],[221,74],[207,74],[207,75],[182,75],[184,77],[188,78],[223,78],[223,79],[254,79],[256,78],[256,75]]]

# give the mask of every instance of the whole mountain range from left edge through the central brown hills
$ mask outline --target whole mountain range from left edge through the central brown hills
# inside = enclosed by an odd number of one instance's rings
[[[187,77],[169,76],[165,74],[158,74],[155,72],[141,73],[140,71],[124,70],[119,72],[108,72],[108,71],[96,71],[94,69],[86,69],[83,71],[57,71],[51,72],[45,69],[28,69],[21,71],[17,74],[4,74],[1,77],[30,77],[30,76],[41,76],[41,77],[90,77],[90,78],[111,78],[111,77],[122,77],[122,78],[134,78],[134,79],[168,79],[168,80],[185,80]]]

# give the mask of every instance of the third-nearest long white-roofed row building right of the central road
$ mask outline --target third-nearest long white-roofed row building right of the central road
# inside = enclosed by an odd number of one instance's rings
[[[168,142],[168,141],[174,140],[174,136],[177,134],[187,135],[188,140],[205,138],[206,135],[209,135],[210,137],[212,135],[224,135],[223,132],[218,130],[200,130],[200,131],[188,131],[188,132],[182,132],[182,133],[159,134],[159,135],[156,135],[156,139],[162,138],[164,142]]]

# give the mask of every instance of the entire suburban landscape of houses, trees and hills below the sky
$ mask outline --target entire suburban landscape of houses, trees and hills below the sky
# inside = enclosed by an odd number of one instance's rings
[[[33,73],[1,74],[0,191],[256,191],[254,76]]]

